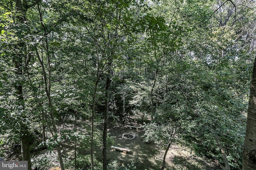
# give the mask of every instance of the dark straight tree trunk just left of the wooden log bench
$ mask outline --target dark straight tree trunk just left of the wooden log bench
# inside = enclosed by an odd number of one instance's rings
[[[110,83],[112,75],[112,60],[108,64],[108,76],[106,78],[106,92],[105,92],[105,110],[104,110],[104,128],[102,135],[102,160],[103,160],[103,170],[107,170],[107,132],[108,132],[108,111],[109,111],[109,98],[110,98]]]

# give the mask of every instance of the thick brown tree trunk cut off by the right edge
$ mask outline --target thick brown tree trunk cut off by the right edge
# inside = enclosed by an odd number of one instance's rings
[[[243,170],[256,169],[256,58],[252,71],[246,135],[243,152]]]

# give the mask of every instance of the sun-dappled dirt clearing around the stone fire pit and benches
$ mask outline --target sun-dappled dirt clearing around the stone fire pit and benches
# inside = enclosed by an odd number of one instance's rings
[[[127,127],[116,127],[108,131],[110,137],[114,137],[114,146],[130,149],[131,153],[112,151],[108,146],[108,158],[117,160],[122,165],[131,164],[138,170],[156,170],[162,167],[162,158],[165,150],[158,149],[156,145],[143,141],[143,130],[129,129]],[[123,133],[136,135],[133,140],[122,139]],[[189,148],[178,144],[171,145],[166,156],[166,170],[211,170],[216,167],[215,162],[207,162],[196,156]]]

